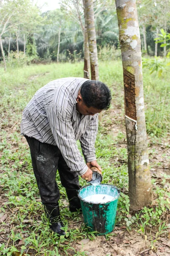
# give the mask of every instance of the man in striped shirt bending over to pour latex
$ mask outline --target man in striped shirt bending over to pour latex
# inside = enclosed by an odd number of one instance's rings
[[[96,162],[98,113],[108,109],[111,92],[99,81],[62,78],[40,88],[23,111],[21,134],[30,147],[34,175],[51,229],[64,235],[59,214],[57,169],[71,212],[81,208],[79,177],[90,181]],[[76,140],[80,140],[85,162]]]

